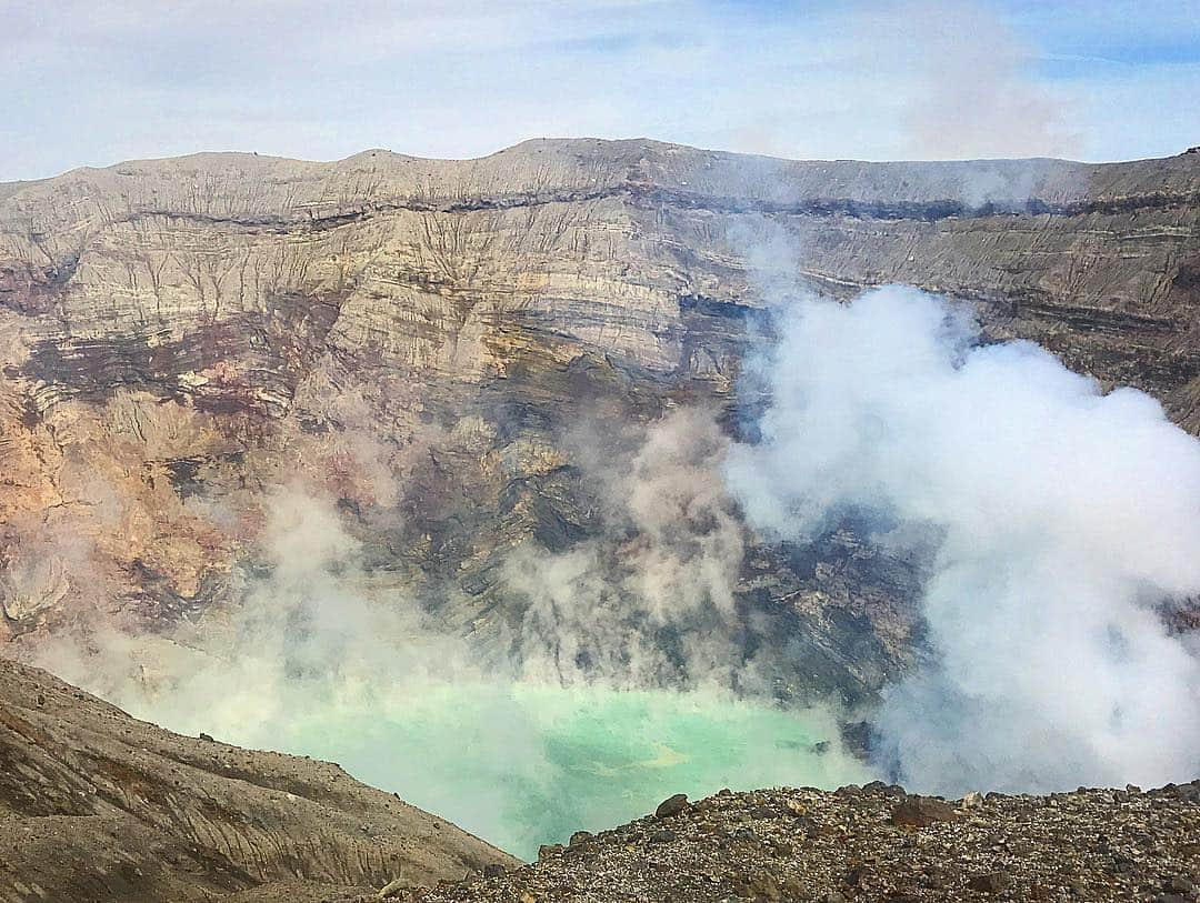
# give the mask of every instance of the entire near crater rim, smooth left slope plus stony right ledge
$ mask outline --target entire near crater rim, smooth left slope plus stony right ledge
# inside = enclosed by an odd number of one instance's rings
[[[722,790],[522,865],[336,765],[170,734],[13,662],[0,678],[4,903],[1198,899],[1200,781]]]

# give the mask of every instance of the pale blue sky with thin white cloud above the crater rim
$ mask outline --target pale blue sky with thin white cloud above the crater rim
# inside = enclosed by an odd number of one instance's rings
[[[0,180],[197,150],[788,157],[1200,144],[1200,0],[0,0]]]

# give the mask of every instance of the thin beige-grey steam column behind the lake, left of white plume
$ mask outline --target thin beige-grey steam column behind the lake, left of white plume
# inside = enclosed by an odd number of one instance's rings
[[[515,643],[522,673],[744,686],[734,600],[744,536],[720,480],[728,439],[710,415],[682,409],[647,427],[631,453],[592,460],[586,444],[577,459],[600,489],[602,535],[557,555],[524,546],[505,561],[505,589],[527,602]]]

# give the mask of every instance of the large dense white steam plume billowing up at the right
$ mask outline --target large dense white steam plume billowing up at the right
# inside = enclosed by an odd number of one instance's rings
[[[946,793],[1200,772],[1200,662],[1154,610],[1200,590],[1200,441],[908,288],[799,302],[764,366],[762,441],[727,463],[749,520],[935,549],[883,764]]]

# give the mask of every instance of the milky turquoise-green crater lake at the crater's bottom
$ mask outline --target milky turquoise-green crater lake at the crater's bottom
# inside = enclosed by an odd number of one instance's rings
[[[707,693],[473,684],[376,702],[294,711],[269,744],[334,759],[526,859],[674,793],[866,777],[838,751],[830,718]]]

